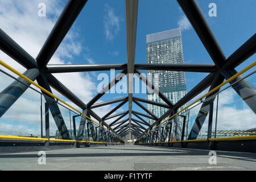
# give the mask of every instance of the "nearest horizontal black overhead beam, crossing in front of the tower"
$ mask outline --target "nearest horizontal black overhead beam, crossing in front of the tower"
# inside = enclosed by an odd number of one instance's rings
[[[135,69],[176,72],[217,72],[215,64],[135,64]]]

